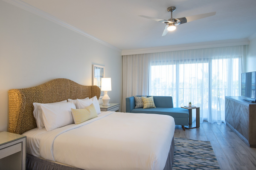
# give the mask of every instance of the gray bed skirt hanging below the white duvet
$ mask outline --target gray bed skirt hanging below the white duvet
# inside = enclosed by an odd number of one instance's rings
[[[172,170],[172,164],[174,162],[174,138],[172,138],[172,143],[168,158],[166,160],[166,165],[163,170]],[[52,161],[47,161],[45,159],[40,159],[38,157],[27,154],[26,156],[26,170],[82,170],[76,167],[69,167],[62,164],[58,164]]]

